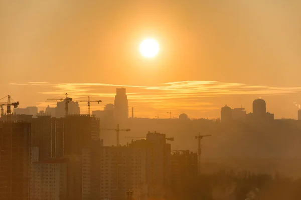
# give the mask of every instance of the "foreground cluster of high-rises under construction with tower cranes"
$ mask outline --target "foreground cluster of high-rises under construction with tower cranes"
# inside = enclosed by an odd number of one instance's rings
[[[119,123],[102,127],[100,118],[90,114],[90,103],[101,100],[76,101],[67,93],[49,98],[57,102],[56,116],[64,105],[64,116],[52,117],[47,112],[15,114],[11,107],[18,110],[19,101],[5,98],[0,103],[0,199],[167,198],[173,184],[198,173],[197,154],[173,151],[169,142],[174,137],[145,131],[144,137],[125,135],[130,142],[121,144],[120,134],[130,128]],[[78,102],[87,102],[87,114],[79,113]],[[128,111],[122,102],[119,107]],[[113,133],[115,144],[105,146],[103,132]],[[199,153],[203,136],[198,136]]]

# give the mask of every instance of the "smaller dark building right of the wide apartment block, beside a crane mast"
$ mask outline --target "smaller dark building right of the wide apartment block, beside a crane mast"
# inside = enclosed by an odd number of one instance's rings
[[[181,184],[194,179],[198,175],[198,154],[189,150],[177,150],[171,156],[171,179],[172,186],[179,187]]]

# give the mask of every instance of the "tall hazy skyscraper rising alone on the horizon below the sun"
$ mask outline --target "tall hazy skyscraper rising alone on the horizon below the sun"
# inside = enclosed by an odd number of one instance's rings
[[[114,117],[117,121],[124,121],[128,118],[128,102],[124,87],[116,88]]]

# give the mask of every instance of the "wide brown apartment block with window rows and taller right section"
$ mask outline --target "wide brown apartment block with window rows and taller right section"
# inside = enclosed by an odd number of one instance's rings
[[[150,133],[126,146],[101,148],[100,198],[165,198],[171,183],[171,146],[165,134]]]

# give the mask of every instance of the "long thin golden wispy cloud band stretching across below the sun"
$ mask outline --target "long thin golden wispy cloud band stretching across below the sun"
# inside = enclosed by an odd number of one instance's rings
[[[247,85],[243,83],[228,83],[218,81],[178,81],[167,82],[157,86],[123,85],[106,83],[49,83],[49,82],[27,82],[11,83],[13,85],[45,85],[48,90],[40,93],[46,95],[62,95],[64,92],[81,96],[107,96],[111,97],[114,93],[103,92],[102,89],[108,87],[127,87],[132,88],[132,93],[127,93],[131,99],[166,99],[166,98],[187,98],[187,97],[207,97],[221,95],[283,95],[301,91],[299,87],[275,87],[268,85]]]

